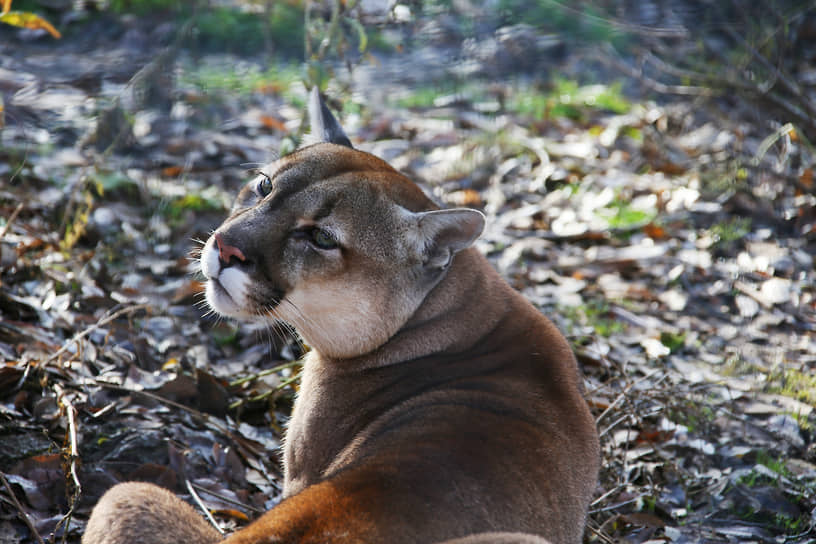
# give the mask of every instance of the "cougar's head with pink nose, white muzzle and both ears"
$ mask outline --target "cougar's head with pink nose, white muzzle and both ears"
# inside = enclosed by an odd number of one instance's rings
[[[219,314],[285,321],[322,355],[354,357],[407,322],[484,217],[437,209],[353,149],[316,89],[309,107],[320,142],[262,168],[206,242],[206,298]]]

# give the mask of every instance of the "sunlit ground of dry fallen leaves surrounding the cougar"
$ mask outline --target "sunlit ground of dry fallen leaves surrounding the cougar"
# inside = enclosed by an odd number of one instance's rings
[[[232,530],[278,500],[300,354],[206,316],[190,255],[306,90],[269,59],[163,57],[172,23],[83,24],[0,30],[0,542],[78,542],[129,479]],[[334,105],[355,145],[483,210],[479,248],[572,342],[603,448],[586,541],[816,541],[803,139],[587,51],[533,77],[440,47],[363,62]]]

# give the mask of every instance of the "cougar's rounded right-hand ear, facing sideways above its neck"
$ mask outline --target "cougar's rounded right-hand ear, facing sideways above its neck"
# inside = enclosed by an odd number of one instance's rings
[[[417,215],[426,268],[446,268],[453,256],[470,247],[484,229],[482,212],[469,208],[420,212]]]

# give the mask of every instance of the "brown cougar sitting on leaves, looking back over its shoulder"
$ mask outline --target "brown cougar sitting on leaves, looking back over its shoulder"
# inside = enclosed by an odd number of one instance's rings
[[[580,542],[599,448],[567,341],[471,247],[479,211],[439,209],[354,149],[316,90],[309,106],[320,141],[247,183],[201,255],[213,310],[311,347],[283,499],[223,542]],[[83,543],[220,539],[130,482]]]

